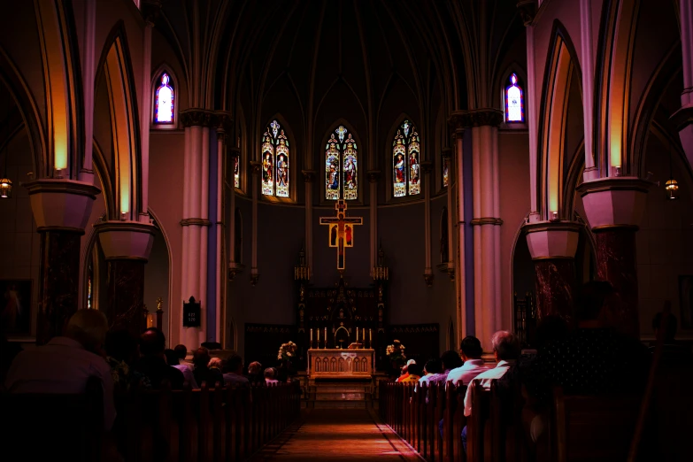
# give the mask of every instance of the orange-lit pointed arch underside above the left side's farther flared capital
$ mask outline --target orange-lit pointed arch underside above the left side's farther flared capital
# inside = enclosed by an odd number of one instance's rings
[[[113,27],[99,61],[96,81],[104,76],[111,111],[116,216],[135,219],[141,212],[140,133],[127,37],[122,21]]]

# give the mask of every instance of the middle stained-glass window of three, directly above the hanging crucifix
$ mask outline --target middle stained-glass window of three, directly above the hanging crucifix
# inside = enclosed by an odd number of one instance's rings
[[[325,146],[325,198],[358,199],[358,147],[343,125],[330,135]]]

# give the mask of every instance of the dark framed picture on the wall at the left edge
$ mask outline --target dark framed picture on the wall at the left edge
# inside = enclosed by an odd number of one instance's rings
[[[31,280],[0,280],[0,310],[8,336],[31,335]]]

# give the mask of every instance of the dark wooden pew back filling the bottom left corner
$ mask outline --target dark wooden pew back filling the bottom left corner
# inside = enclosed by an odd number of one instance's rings
[[[0,393],[4,462],[101,460],[104,391],[91,378],[79,395]]]

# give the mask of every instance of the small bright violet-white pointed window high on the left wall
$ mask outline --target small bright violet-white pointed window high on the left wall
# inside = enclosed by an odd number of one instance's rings
[[[151,74],[150,89],[150,127],[158,130],[178,127],[180,87],[170,65],[159,65],[157,70]],[[168,96],[167,101],[166,96]]]

